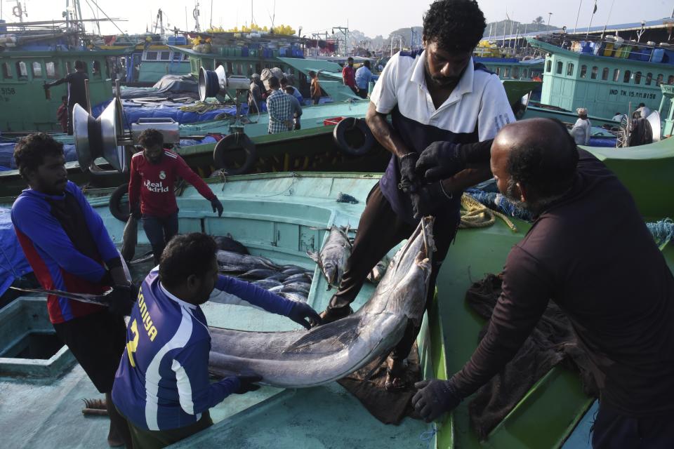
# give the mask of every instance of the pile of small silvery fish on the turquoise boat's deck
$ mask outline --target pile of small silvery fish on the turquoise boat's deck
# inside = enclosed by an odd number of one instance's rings
[[[260,255],[218,250],[220,272],[236,276],[289,300],[307,302],[313,271],[297,265],[278,265]]]

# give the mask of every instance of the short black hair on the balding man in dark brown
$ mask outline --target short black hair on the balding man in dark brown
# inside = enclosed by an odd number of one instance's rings
[[[512,147],[506,166],[515,182],[533,188],[541,199],[559,196],[571,187],[579,158],[576,142],[564,123],[546,121],[552,125],[552,133],[546,132],[546,138],[537,142]]]

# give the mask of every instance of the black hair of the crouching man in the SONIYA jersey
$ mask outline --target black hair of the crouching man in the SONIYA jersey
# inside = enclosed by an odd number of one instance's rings
[[[218,246],[213,237],[201,232],[177,235],[166,244],[159,262],[159,280],[178,286],[189,276],[203,276],[213,263]]]

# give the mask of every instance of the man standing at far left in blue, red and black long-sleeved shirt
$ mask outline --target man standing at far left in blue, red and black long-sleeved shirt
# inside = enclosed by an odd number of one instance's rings
[[[19,173],[28,182],[12,206],[12,223],[42,288],[70,293],[103,293],[113,286],[110,310],[49,295],[49,321],[105,394],[110,445],[127,444],[126,422],[112,407],[110,392],[124,351],[124,319],[136,299],[121,257],[77,185],[67,180],[63,144],[46,133],[28,135],[14,148]],[[58,421],[55,421],[58,425]]]

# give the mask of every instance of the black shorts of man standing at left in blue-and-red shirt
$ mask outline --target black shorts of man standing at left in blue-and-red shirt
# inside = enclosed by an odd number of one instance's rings
[[[124,319],[100,311],[53,326],[96,389],[100,393],[110,393],[114,373],[126,346]]]

